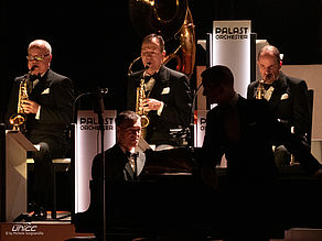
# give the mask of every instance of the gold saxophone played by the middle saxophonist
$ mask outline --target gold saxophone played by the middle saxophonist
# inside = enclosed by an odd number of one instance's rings
[[[149,68],[149,64],[147,64],[146,69]],[[137,88],[137,105],[136,105],[136,113],[141,117],[141,128],[144,129],[149,125],[150,123],[150,118],[148,117],[148,112],[144,111],[143,109],[143,100],[147,98],[146,97],[146,83],[144,83],[144,75],[146,72],[143,73],[143,77],[140,80],[140,85]]]

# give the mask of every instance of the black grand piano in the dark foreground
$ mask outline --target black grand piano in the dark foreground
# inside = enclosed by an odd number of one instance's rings
[[[198,151],[179,147],[147,153],[139,180],[107,183],[107,237],[116,240],[117,237],[128,237],[131,240],[167,233],[164,235],[186,235],[186,240],[198,240],[193,239],[194,235],[222,239],[225,226],[233,219],[247,224],[253,207],[256,207],[258,217],[269,215],[262,220],[271,239],[283,238],[290,228],[322,228],[321,184],[300,165],[279,167],[279,177],[269,190],[260,190],[256,185],[257,189],[244,190],[240,186],[237,194],[230,196],[226,168],[216,168],[217,189],[201,182],[195,158]],[[245,201],[245,210],[236,213],[232,207],[240,199]],[[100,235],[103,215],[93,215],[98,206],[99,200],[92,193],[89,209],[73,218],[77,232]],[[233,216],[232,210],[235,211]]]

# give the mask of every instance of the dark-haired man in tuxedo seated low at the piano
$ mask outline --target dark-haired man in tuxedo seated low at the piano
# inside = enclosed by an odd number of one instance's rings
[[[141,134],[141,118],[130,110],[120,112],[116,118],[116,144],[104,153],[106,183],[115,185],[138,179],[143,167],[143,158],[137,156],[143,155],[143,153],[135,153]],[[100,238],[103,229],[103,175],[100,153],[95,156],[92,166],[89,209],[76,218],[76,227],[79,230],[84,230],[86,227],[86,231],[95,232]],[[109,191],[107,186],[106,191]],[[106,205],[106,207],[110,206]],[[111,220],[112,217],[108,215],[108,219]]]

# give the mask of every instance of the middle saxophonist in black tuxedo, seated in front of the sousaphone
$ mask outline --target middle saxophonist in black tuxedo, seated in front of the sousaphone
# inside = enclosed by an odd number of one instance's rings
[[[186,75],[163,65],[164,41],[161,35],[147,35],[141,45],[141,58],[146,67],[129,77],[127,109],[136,111],[137,87],[146,83],[142,107],[149,117],[146,141],[149,144],[179,145],[171,129],[186,128],[191,114],[191,89]]]

